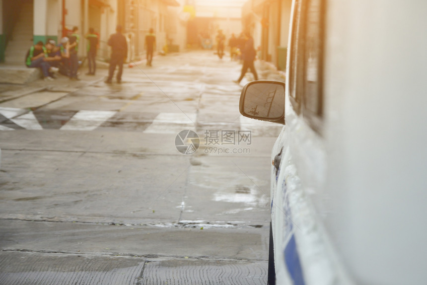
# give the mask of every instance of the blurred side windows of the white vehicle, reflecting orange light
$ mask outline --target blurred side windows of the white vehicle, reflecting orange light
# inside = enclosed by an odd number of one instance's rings
[[[295,1],[290,47],[289,99],[315,131],[323,115],[323,2]]]

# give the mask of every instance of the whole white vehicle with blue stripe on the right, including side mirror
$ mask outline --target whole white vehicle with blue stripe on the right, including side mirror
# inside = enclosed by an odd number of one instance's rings
[[[427,284],[427,1],[293,0],[286,84],[242,115],[272,151],[269,284]]]

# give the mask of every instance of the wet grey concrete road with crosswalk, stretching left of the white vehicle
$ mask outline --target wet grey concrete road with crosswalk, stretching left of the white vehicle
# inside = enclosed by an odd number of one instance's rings
[[[0,284],[266,284],[282,126],[239,114],[240,67],[195,51],[121,84],[0,85]]]

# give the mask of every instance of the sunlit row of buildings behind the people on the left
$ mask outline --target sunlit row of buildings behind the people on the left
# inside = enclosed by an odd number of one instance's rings
[[[74,26],[79,30],[80,47],[86,46],[84,34],[89,28],[99,35],[99,60],[108,61],[107,41],[118,24],[128,40],[129,60],[143,58],[150,28],[156,34],[157,51],[167,51],[174,42],[185,48],[186,22],[177,16],[182,6],[176,0],[0,0],[0,62],[23,64],[32,44],[59,41]],[[80,57],[85,50],[79,49]]]

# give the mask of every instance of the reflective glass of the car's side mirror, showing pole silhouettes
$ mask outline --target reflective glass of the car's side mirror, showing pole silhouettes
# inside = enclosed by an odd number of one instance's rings
[[[244,112],[251,117],[281,118],[285,114],[284,85],[256,82],[247,86]]]

